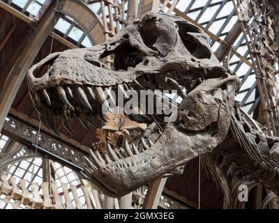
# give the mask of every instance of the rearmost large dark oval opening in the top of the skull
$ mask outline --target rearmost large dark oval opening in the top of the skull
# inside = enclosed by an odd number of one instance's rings
[[[179,25],[179,36],[190,54],[197,59],[210,59],[211,50],[206,46],[207,40],[202,36],[202,31],[193,24],[187,22],[177,23]]]

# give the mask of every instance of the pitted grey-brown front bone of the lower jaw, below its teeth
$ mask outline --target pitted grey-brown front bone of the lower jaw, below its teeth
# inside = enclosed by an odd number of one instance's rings
[[[167,124],[149,150],[101,167],[91,174],[91,183],[110,197],[121,197],[196,157],[191,148],[190,137]]]

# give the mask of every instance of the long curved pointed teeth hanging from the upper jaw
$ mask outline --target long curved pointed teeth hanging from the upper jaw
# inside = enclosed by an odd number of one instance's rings
[[[127,86],[126,86],[126,88],[127,88]],[[128,98],[128,95],[127,95],[126,91],[124,90],[123,84],[119,84],[118,89],[121,93],[123,93],[124,97]],[[93,115],[93,114],[96,114],[96,112],[92,108],[92,107],[96,107],[96,105],[94,105],[96,103],[96,101],[100,102],[100,105],[105,105],[108,112],[112,112],[112,109],[110,107],[110,103],[107,101],[107,95],[110,97],[110,100],[112,103],[111,105],[112,106],[116,105],[116,102],[114,101],[114,98],[112,97],[112,93],[111,93],[110,89],[102,88],[100,86],[97,86],[95,88],[93,88],[91,86],[84,86],[84,87],[78,86],[75,91],[77,94],[77,98],[80,99],[80,102],[82,102],[82,105],[87,110],[90,111],[87,113],[85,113],[79,107],[75,107],[74,105],[72,105],[70,103],[70,101],[73,101],[73,99],[74,99],[74,95],[73,95],[74,92],[72,91],[72,89],[70,89],[69,86],[56,86],[56,91],[59,95],[59,99],[66,106],[66,109],[63,111],[63,115],[62,115],[63,125],[66,128],[66,130],[68,130],[68,132],[70,132],[71,134],[74,134],[74,131],[70,126],[70,121],[69,121],[70,112],[77,111],[78,112],[77,118],[79,118],[79,120],[82,123],[82,125],[84,126],[84,128],[91,129],[91,128],[96,127],[96,122],[94,121],[96,116]],[[36,105],[39,108],[39,111],[40,111],[41,107],[45,106],[42,98],[45,98],[45,102],[47,103],[47,105],[49,105],[49,108],[46,108],[46,109],[50,109],[52,107],[52,101],[50,100],[50,95],[47,92],[47,89],[42,89],[41,91],[36,91],[36,93],[34,94],[34,99],[35,99]],[[99,118],[104,120],[103,114],[96,114],[96,115],[98,115]],[[42,117],[42,119],[43,118],[44,117]],[[49,127],[52,130],[54,130],[54,132],[56,132],[55,126],[49,126]]]

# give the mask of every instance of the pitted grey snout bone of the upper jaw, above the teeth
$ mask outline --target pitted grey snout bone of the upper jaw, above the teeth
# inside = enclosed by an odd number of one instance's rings
[[[88,49],[70,49],[66,52],[50,54],[32,66],[27,73],[31,93],[64,85],[114,86],[123,82],[133,82],[136,78],[134,72],[125,70],[116,72],[107,69],[104,63],[98,61],[98,58],[93,59],[96,56],[87,60],[88,53]],[[45,75],[40,78],[34,77],[37,70],[49,63],[52,64]]]

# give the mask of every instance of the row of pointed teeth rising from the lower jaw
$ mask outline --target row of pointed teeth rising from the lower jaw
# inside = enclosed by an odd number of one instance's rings
[[[153,142],[149,139],[149,145],[146,143],[146,141],[141,138],[141,145],[142,149],[137,148],[135,144],[132,144],[130,146],[128,144],[128,140],[125,140],[125,143],[123,145],[125,153],[120,153],[117,148],[115,150],[112,149],[112,146],[108,143],[107,144],[107,153],[102,153],[99,151],[96,151],[95,153],[90,149],[90,158],[84,157],[85,164],[84,164],[84,170],[87,174],[92,174],[92,172],[97,171],[99,168],[105,166],[106,164],[109,164],[111,162],[115,162],[117,160],[122,160],[126,157],[133,157],[134,155],[139,155],[140,153],[146,151],[147,149],[151,148],[153,145]],[[133,159],[131,159],[133,162]]]

